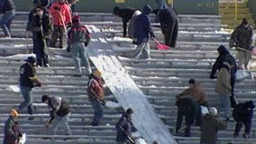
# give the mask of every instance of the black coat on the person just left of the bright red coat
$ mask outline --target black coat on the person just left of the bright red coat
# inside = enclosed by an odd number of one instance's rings
[[[32,31],[36,39],[49,38],[52,32],[52,19],[48,11],[44,8],[42,17],[36,14],[36,8],[29,14],[27,31]]]

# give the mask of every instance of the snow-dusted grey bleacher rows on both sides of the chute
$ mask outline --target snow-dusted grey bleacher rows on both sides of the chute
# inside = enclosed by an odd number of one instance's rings
[[[23,97],[16,92],[7,90],[10,85],[18,84],[18,68],[23,64],[22,58],[11,57],[14,54],[28,53],[32,49],[32,40],[26,39],[25,23],[27,13],[18,13],[12,25],[12,40],[0,40],[0,55],[10,56],[0,58],[0,121],[4,126],[8,112],[11,108],[23,101]],[[202,83],[209,103],[217,106],[219,99],[215,94],[215,80],[209,79],[211,66],[217,57],[217,47],[220,44],[228,46],[229,32],[222,30],[220,17],[215,15],[179,15],[179,33],[177,49],[159,51],[151,41],[151,59],[133,59],[129,51],[133,49],[131,40],[121,39],[122,23],[120,19],[112,14],[81,14],[85,24],[94,24],[105,33],[105,40],[116,48],[119,60],[122,62],[136,84],[147,95],[148,101],[155,108],[160,119],[167,128],[175,135],[180,144],[196,144],[199,141],[200,130],[192,127],[192,136],[182,137],[174,131],[176,123],[177,108],[175,106],[175,95],[187,87],[189,78],[196,78]],[[154,20],[151,15],[152,22]],[[103,21],[103,22],[100,22]],[[152,23],[157,38],[162,41],[159,23]],[[0,33],[1,34],[1,33]],[[14,48],[13,44],[19,44]],[[119,48],[120,47],[120,48]],[[120,50],[123,49],[123,50]],[[235,51],[233,51],[235,55]],[[128,53],[128,54],[127,54]],[[58,58],[61,54],[63,58]],[[65,57],[65,58],[64,58]],[[69,58],[65,49],[50,49],[50,67],[37,68],[38,76],[43,80],[43,86],[35,88],[33,97],[36,104],[36,112],[33,121],[28,121],[28,114],[21,114],[21,128],[28,134],[28,144],[59,144],[59,143],[102,143],[114,144],[114,124],[120,117],[122,108],[105,108],[105,116],[100,126],[92,127],[90,122],[93,117],[93,110],[87,100],[86,84],[87,77],[73,77],[73,61]],[[255,73],[250,71],[251,75]],[[236,96],[239,102],[253,100],[255,95],[255,81],[246,79],[236,85]],[[73,136],[69,140],[63,140],[66,136],[61,135],[61,130],[56,136],[44,135],[44,122],[47,120],[48,112],[44,104],[41,104],[41,94],[59,95],[69,100],[72,107],[72,114],[69,125]],[[108,94],[106,100],[116,102],[114,95]],[[220,112],[222,118],[223,112]],[[256,143],[255,119],[253,119],[251,139],[233,139],[234,123],[229,122],[228,130],[219,132],[218,142],[220,144],[233,143]],[[1,127],[3,131],[3,127]],[[45,137],[52,139],[43,139]],[[0,135],[3,139],[3,135]]]

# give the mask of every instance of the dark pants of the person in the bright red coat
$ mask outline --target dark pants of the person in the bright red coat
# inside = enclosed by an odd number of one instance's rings
[[[65,28],[63,26],[53,26],[53,32],[51,34],[50,47],[57,47],[56,43],[59,39],[59,48],[62,48],[62,36],[64,35]]]

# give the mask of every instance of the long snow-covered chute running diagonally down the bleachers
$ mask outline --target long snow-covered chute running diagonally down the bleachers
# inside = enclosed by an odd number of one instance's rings
[[[176,140],[160,120],[146,95],[142,93],[142,90],[134,83],[133,78],[129,76],[114,55],[111,45],[105,42],[102,33],[98,32],[96,27],[91,31],[97,40],[92,41],[89,45],[90,58],[102,72],[107,86],[123,108],[125,110],[133,108],[133,122],[142,137],[149,140],[148,143],[158,140],[161,144],[176,144]]]

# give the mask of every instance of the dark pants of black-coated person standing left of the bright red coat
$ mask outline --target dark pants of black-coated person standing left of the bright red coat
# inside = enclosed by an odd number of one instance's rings
[[[33,36],[33,48],[36,54],[37,66],[41,66],[41,63],[43,64],[43,66],[46,66],[46,64],[49,63],[46,40],[37,37],[37,35],[35,34]]]

